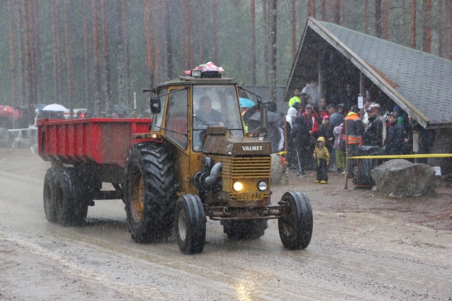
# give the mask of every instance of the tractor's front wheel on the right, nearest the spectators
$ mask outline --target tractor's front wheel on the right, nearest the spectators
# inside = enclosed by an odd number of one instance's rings
[[[284,193],[281,218],[277,226],[282,245],[289,250],[305,249],[312,237],[312,208],[305,193]]]

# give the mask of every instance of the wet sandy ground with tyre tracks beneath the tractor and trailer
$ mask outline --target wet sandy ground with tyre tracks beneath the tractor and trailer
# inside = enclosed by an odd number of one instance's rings
[[[291,170],[272,200],[307,193],[306,250],[285,250],[275,220],[256,241],[230,241],[209,221],[204,252],[186,256],[174,242],[134,243],[120,200],[96,201],[83,227],[47,222],[49,166],[0,149],[0,300],[452,300],[450,189],[394,199]]]

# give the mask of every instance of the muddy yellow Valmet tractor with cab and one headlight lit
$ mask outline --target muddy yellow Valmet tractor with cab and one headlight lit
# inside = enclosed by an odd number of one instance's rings
[[[271,145],[245,133],[239,89],[234,79],[200,71],[143,89],[156,95],[152,124],[134,134],[124,185],[136,242],[168,237],[174,226],[181,252],[194,254],[204,248],[207,218],[233,239],[259,238],[267,220],[278,219],[284,247],[309,245],[309,199],[288,192],[271,203]]]

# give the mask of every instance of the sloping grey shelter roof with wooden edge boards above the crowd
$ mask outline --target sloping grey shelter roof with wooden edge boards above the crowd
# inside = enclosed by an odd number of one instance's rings
[[[296,85],[296,68],[308,56],[303,47],[307,35],[318,35],[337,49],[424,128],[452,127],[451,60],[312,17],[293,62],[286,97]]]

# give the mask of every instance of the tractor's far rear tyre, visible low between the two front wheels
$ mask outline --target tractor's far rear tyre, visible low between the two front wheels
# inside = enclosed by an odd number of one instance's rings
[[[267,220],[223,220],[223,232],[231,239],[257,239],[267,227]]]

